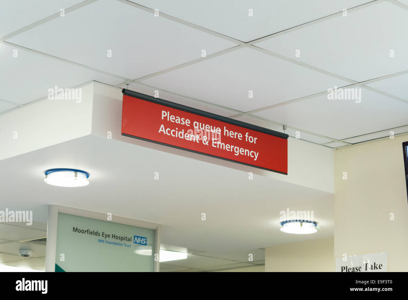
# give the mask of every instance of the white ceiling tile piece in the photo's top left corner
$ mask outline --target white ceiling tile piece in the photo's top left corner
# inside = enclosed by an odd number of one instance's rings
[[[0,37],[47,18],[84,0],[2,0]]]

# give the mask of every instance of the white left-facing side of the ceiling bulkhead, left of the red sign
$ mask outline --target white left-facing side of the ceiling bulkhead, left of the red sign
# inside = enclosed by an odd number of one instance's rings
[[[45,98],[1,114],[0,160],[90,134],[93,83],[78,88],[79,103]]]

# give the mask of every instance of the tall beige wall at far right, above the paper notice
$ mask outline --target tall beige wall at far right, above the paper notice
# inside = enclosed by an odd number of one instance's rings
[[[388,271],[408,270],[405,141],[408,134],[335,151],[335,257],[388,251]]]

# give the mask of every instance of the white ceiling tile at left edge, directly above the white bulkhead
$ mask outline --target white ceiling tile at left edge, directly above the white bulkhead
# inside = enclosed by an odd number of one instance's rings
[[[17,57],[13,57],[17,50]],[[96,80],[119,84],[122,79],[107,76],[61,60],[0,44],[0,98],[25,104],[47,97],[48,89],[71,88]]]

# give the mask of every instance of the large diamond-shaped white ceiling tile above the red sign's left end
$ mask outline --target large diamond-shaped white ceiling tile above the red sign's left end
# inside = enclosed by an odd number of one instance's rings
[[[7,41],[130,79],[201,58],[203,49],[208,56],[236,45],[112,0],[98,0]]]

